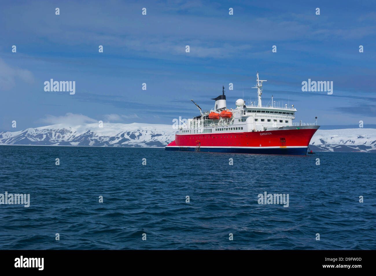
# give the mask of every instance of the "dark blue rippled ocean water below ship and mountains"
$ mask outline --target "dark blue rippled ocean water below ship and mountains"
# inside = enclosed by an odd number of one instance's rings
[[[0,205],[0,249],[376,249],[375,167],[356,152],[0,146],[0,193],[30,194]]]

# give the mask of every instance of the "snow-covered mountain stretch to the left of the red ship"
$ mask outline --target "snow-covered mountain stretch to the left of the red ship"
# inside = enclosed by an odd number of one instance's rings
[[[0,132],[0,145],[164,147],[175,139],[172,125],[63,124]]]

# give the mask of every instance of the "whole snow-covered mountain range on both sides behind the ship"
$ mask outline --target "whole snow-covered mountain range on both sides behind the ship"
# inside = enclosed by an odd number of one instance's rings
[[[0,132],[0,145],[164,147],[175,139],[172,125],[64,124]],[[318,130],[309,146],[313,151],[376,152],[376,129]]]

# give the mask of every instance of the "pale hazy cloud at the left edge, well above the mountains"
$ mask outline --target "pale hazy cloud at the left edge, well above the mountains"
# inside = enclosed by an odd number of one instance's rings
[[[17,67],[12,68],[0,59],[0,89],[8,90],[15,86],[15,78],[20,78],[27,83],[33,83],[32,72]]]

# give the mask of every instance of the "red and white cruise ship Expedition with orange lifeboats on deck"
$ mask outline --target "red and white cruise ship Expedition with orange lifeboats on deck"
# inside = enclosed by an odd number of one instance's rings
[[[179,124],[175,140],[165,149],[169,151],[230,152],[251,154],[306,155],[309,142],[317,129],[315,123],[293,122],[297,112],[294,105],[262,106],[262,83],[256,75],[258,102],[249,103],[239,99],[235,109],[228,109],[224,87],[222,95],[214,100],[214,108]]]

